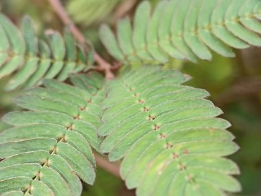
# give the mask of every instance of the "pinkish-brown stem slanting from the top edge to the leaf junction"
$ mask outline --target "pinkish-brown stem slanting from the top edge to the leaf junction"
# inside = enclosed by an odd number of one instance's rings
[[[51,4],[52,8],[56,12],[60,20],[63,21],[65,25],[69,25],[69,28],[71,29],[71,32],[76,37],[76,39],[80,43],[84,43],[85,42],[84,36],[80,32],[80,30],[78,30],[78,28],[73,23],[73,21],[70,19],[67,12],[65,11],[65,8],[63,8],[62,3],[60,3],[60,0],[47,0],[47,1],[49,1],[49,3]],[[94,59],[100,66],[98,69],[105,72],[107,80],[114,78],[113,72],[111,72],[111,65],[108,62],[106,62],[97,52],[94,52]]]

